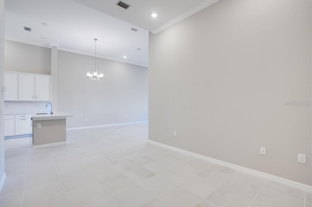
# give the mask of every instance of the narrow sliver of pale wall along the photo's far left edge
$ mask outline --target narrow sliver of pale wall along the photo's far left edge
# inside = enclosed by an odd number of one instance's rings
[[[4,85],[4,0],[0,0],[0,86]],[[0,106],[4,105],[0,92]],[[0,180],[4,175],[4,117],[0,113]]]

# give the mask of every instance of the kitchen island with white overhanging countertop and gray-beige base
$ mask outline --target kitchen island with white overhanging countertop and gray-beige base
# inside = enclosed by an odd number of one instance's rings
[[[66,118],[72,116],[74,115],[64,112],[32,115],[33,147],[66,144]]]

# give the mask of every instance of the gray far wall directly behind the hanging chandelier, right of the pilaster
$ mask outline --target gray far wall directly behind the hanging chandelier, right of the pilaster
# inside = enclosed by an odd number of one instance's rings
[[[76,115],[67,128],[147,121],[148,69],[97,58],[104,80],[92,81],[93,64],[92,56],[58,51],[58,110]]]

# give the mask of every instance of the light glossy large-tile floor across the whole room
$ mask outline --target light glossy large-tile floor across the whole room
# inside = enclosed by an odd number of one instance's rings
[[[150,144],[148,125],[5,140],[0,207],[312,207],[311,193]]]

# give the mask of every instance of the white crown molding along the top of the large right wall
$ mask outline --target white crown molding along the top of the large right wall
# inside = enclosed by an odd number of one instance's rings
[[[194,15],[195,13],[207,8],[208,6],[213,5],[214,3],[218,2],[219,0],[205,0],[204,2],[198,4],[194,8],[184,12],[183,14],[177,16],[176,18],[168,21],[167,23],[161,25],[160,27],[156,28],[155,30],[151,31],[154,35],[157,33],[160,33],[161,31],[175,25],[176,23],[182,21],[183,19],[186,19],[187,17],[190,17]]]

